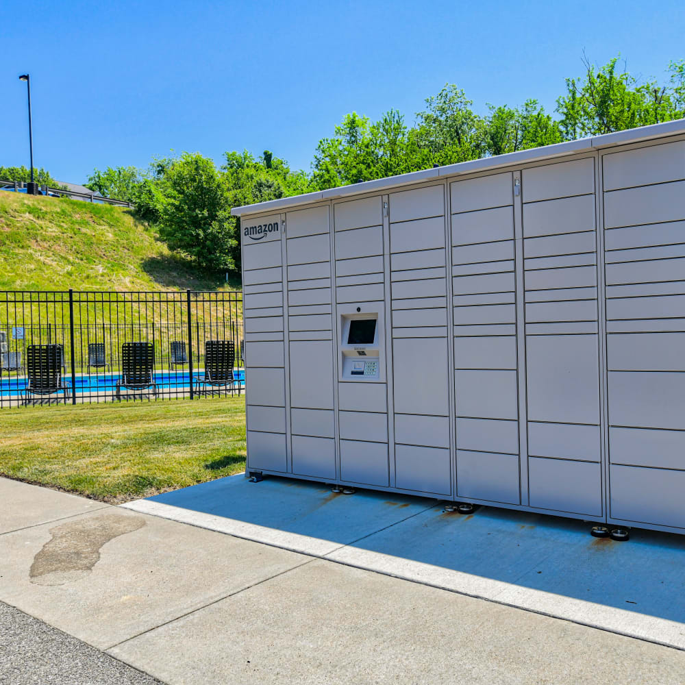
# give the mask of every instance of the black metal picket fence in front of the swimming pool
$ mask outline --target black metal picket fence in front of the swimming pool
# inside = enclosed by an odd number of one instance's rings
[[[242,293],[0,291],[0,408],[225,397]]]

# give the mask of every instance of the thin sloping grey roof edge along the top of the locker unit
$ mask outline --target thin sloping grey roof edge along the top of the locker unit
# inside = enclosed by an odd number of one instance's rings
[[[528,150],[511,152],[506,155],[470,160],[469,162],[459,162],[458,164],[447,164],[447,166],[438,166],[435,169],[412,171],[399,176],[379,178],[373,181],[351,184],[349,186],[329,188],[328,190],[317,190],[316,192],[307,192],[304,195],[282,197],[281,199],[258,202],[253,205],[234,207],[231,210],[231,214],[233,214],[233,216],[242,216],[242,214],[258,214],[275,210],[286,210],[321,200],[347,197],[350,195],[361,195],[362,193],[373,192],[375,190],[389,190],[391,188],[407,186],[434,178],[464,175],[477,171],[488,171],[490,169],[499,169],[503,166],[511,166],[512,164],[537,162],[573,153],[584,153],[592,150],[614,147],[615,145],[627,145],[632,142],[651,140],[663,136],[676,136],[678,134],[685,134],[685,119],[676,119],[675,121],[667,121],[651,126],[629,129],[627,131],[617,131],[615,133],[604,134],[603,136],[570,140],[569,142],[560,142],[556,145],[547,145],[545,147],[535,147]]]

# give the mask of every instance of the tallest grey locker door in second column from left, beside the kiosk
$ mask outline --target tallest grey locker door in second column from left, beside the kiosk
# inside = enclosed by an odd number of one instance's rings
[[[329,342],[290,340],[290,406],[333,408],[333,355]]]

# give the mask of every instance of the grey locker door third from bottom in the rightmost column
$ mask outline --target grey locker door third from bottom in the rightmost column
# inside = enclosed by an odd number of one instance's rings
[[[685,373],[610,371],[612,425],[685,429]]]

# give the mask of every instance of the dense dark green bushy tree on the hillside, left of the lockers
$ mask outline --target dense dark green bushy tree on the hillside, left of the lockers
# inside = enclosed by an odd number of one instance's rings
[[[160,238],[206,269],[236,271],[235,223],[225,178],[212,160],[184,152],[151,186]]]

